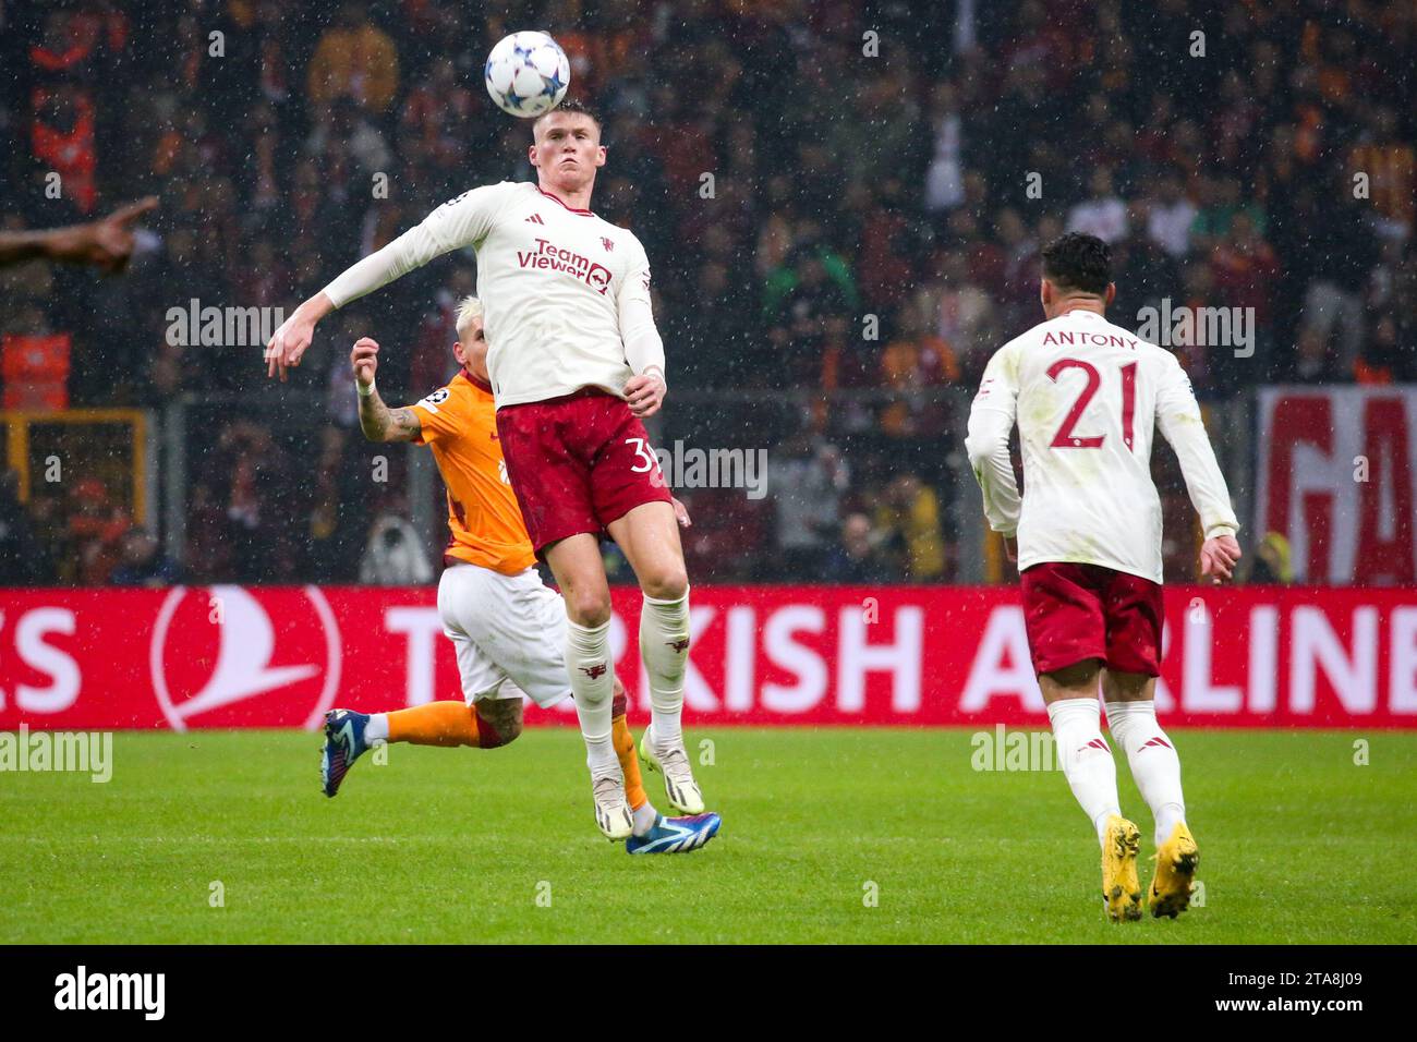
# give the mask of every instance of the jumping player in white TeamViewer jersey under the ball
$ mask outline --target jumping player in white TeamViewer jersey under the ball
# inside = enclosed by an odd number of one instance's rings
[[[595,819],[621,839],[632,819],[611,740],[615,672],[602,533],[619,544],[645,594],[639,649],[652,720],[640,756],[663,770],[674,809],[704,807],[680,727],[689,580],[669,489],[640,422],[665,398],[665,349],[645,248],[589,210],[605,164],[601,121],[568,101],[531,132],[536,184],[466,191],[354,264],[282,323],[266,344],[266,373],[283,379],[299,364],[316,323],[336,308],[451,250],[476,250],[507,474],[531,543],[565,597],[565,665]]]

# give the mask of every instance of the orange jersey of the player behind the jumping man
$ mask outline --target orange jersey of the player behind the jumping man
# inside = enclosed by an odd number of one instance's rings
[[[497,441],[492,388],[458,373],[412,405],[448,486],[448,550],[469,564],[514,576],[536,563]]]

